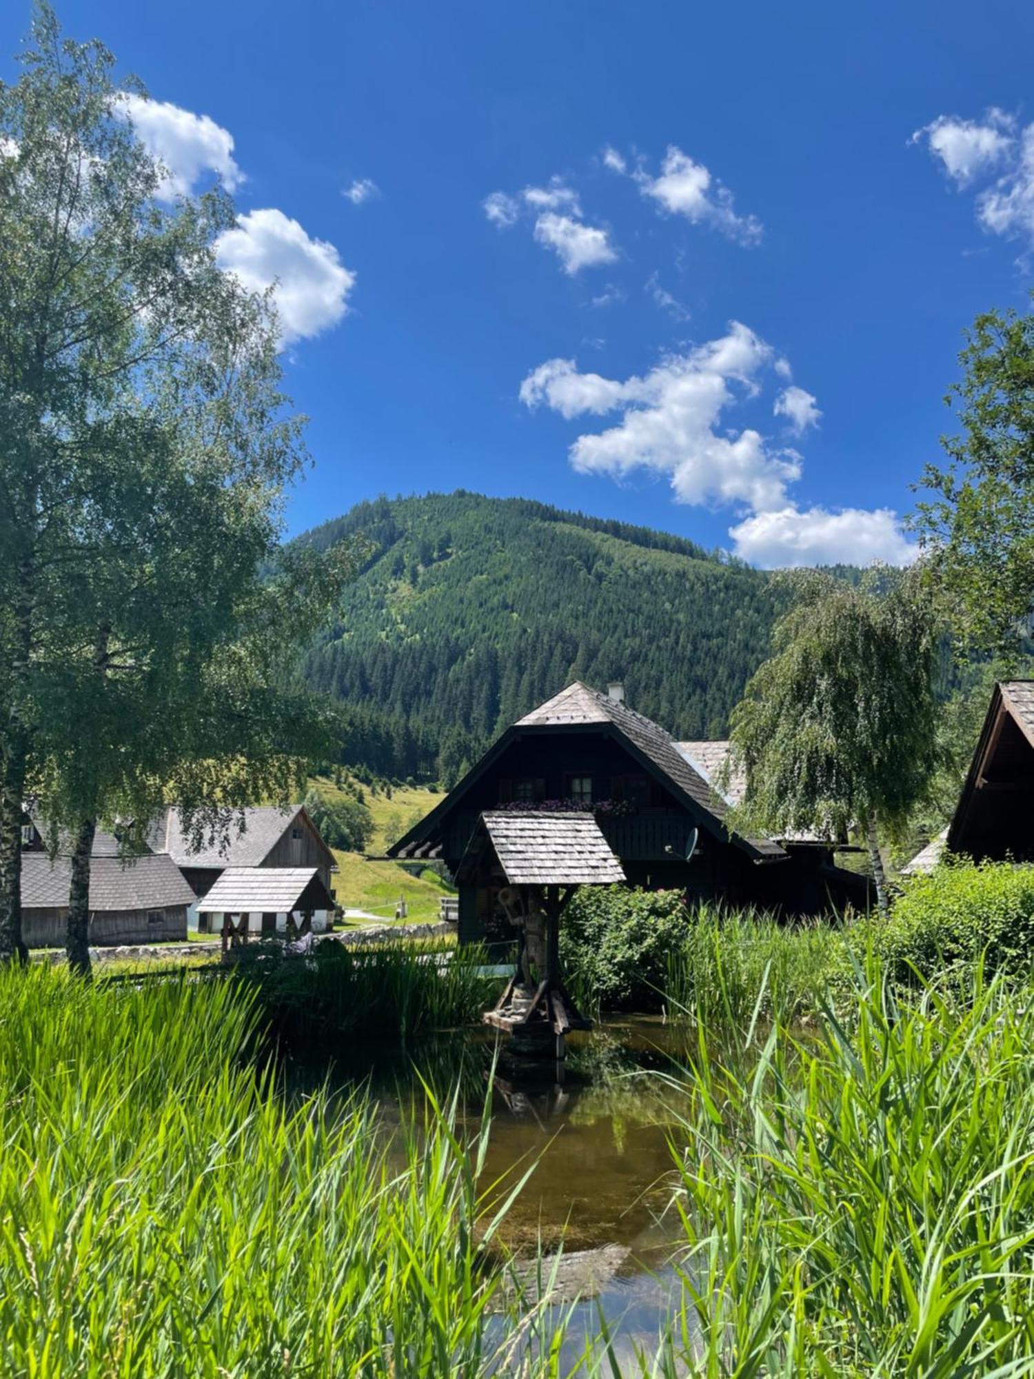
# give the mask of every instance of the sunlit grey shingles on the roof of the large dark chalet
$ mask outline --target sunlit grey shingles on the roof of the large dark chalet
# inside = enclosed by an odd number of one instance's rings
[[[711,787],[704,776],[678,747],[678,743],[656,723],[636,713],[620,701],[611,699],[575,681],[546,703],[525,714],[517,723],[518,728],[546,727],[554,724],[611,723],[633,746],[648,757],[669,781],[684,794],[717,821],[724,821],[727,801]],[[778,860],[786,852],[771,838],[744,840],[758,856]]]

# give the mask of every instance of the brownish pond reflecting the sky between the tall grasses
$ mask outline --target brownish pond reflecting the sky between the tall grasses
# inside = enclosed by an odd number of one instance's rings
[[[342,1091],[367,1085],[389,1129],[419,1109],[420,1076],[443,1096],[459,1085],[459,1129],[470,1139],[491,1096],[481,1186],[498,1185],[502,1197],[535,1165],[506,1215],[502,1241],[518,1259],[539,1245],[547,1255],[562,1245],[556,1295],[562,1303],[580,1295],[565,1309],[572,1362],[580,1338],[598,1332],[601,1311],[618,1357],[630,1361],[636,1346],[653,1353],[678,1306],[670,1139],[680,1142],[685,1069],[696,1054],[695,1036],[659,1016],[605,1020],[574,1034],[561,1065],[517,1058],[502,1036],[473,1029],[405,1051],[349,1041],[331,1052],[331,1084]]]

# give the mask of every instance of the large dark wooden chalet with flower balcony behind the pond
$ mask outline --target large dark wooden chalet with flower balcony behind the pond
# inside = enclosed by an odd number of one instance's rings
[[[729,832],[742,782],[716,787],[727,753],[727,742],[676,742],[623,702],[620,685],[604,695],[576,681],[509,728],[389,855],[445,862],[463,942],[506,934],[505,878],[463,866],[495,811],[594,814],[631,885],[786,914],[864,906],[867,883],[834,865],[830,841]]]

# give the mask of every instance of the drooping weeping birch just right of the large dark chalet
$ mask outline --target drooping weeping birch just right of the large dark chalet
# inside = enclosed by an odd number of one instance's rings
[[[881,834],[904,829],[942,760],[936,611],[915,570],[874,570],[862,586],[780,578],[794,604],[732,714],[731,769],[747,782],[736,827],[860,833],[885,916]]]

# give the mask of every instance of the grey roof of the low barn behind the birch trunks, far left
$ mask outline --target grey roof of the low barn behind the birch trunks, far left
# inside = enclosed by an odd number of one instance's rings
[[[69,903],[72,859],[51,860],[45,852],[22,854],[22,906],[63,909]],[[90,863],[92,912],[160,910],[192,905],[194,892],[172,858],[148,854],[123,860],[94,856]]]

